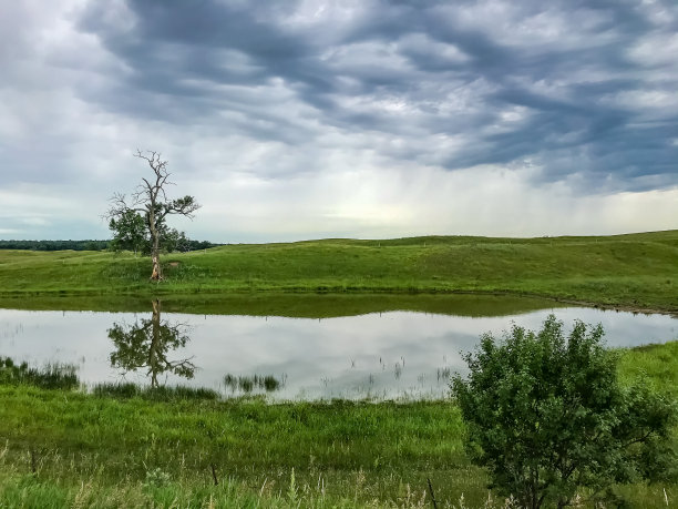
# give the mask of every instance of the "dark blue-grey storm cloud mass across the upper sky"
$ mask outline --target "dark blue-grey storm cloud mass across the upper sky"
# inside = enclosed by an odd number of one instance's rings
[[[38,12],[14,11],[16,21]],[[75,99],[111,114],[290,151],[331,133],[359,147],[374,135],[387,160],[449,170],[528,161],[544,182],[577,173],[617,190],[676,184],[671,0],[127,0],[91,2],[78,17],[115,64],[70,48],[48,57],[71,71],[80,61],[91,75],[73,83]],[[28,31],[0,23],[25,60],[38,54]],[[3,48],[7,80],[43,86]],[[440,136],[462,143],[433,143]],[[58,142],[25,175],[37,177],[50,151],[71,150]],[[0,155],[21,160],[30,143],[0,142]]]

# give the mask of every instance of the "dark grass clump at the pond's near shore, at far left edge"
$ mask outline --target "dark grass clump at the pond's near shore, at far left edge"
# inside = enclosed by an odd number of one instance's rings
[[[31,385],[41,389],[73,389],[80,385],[76,366],[47,364],[42,368],[28,363],[16,364],[10,357],[0,357],[0,384]]]

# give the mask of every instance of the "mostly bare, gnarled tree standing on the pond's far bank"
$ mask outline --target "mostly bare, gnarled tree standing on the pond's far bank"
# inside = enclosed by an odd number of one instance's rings
[[[201,205],[193,196],[188,195],[176,200],[167,198],[165,189],[168,185],[174,185],[174,183],[167,180],[171,175],[167,172],[167,161],[161,157],[160,152],[146,151],[144,153],[137,150],[134,156],[146,161],[153,171],[153,175],[150,179],[142,177],[142,183],[138,184],[129,200],[124,194],[115,193],[111,197],[111,207],[106,216],[110,220],[119,220],[119,223],[130,212],[143,217],[151,240],[151,259],[153,263],[151,279],[160,281],[163,278],[160,252],[163,232],[166,230],[165,218],[168,215],[183,215],[193,218],[194,212]]]

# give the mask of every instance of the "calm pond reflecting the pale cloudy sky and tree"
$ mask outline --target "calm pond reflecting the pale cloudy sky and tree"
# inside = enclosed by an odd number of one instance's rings
[[[480,335],[500,336],[513,323],[537,329],[552,313],[567,329],[575,319],[600,323],[613,347],[678,338],[678,320],[665,315],[502,297],[432,302],[435,306],[402,305],[418,311],[398,311],[391,302],[387,307],[394,309],[377,312],[370,304],[364,314],[357,305],[351,316],[327,316],[323,302],[318,317],[311,317],[308,303],[297,312],[305,317],[267,316],[265,305],[253,315],[177,313],[179,303],[158,301],[146,301],[147,312],[2,308],[0,357],[75,365],[90,388],[132,381],[207,387],[224,396],[266,394],[273,400],[422,399],[448,394],[450,374],[464,371],[461,353],[473,349]],[[492,304],[500,316],[493,316]],[[218,308],[215,303],[203,307]],[[431,307],[435,313],[425,311]],[[288,309],[271,309],[282,308]]]

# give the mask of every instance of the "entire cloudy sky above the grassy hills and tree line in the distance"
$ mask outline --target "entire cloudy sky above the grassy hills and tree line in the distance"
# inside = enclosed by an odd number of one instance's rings
[[[678,227],[675,0],[0,0],[0,238]]]

